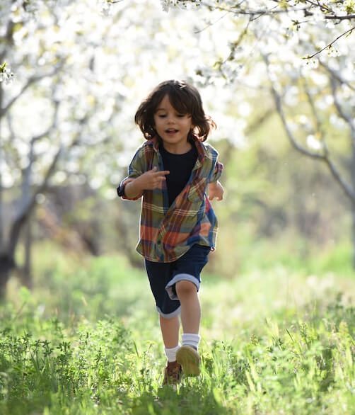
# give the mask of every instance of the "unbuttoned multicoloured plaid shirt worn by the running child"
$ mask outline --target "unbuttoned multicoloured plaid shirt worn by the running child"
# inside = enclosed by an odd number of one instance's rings
[[[165,181],[162,188],[143,191],[135,198],[143,196],[141,202],[140,237],[136,246],[149,261],[173,262],[185,254],[193,244],[211,246],[214,249],[218,222],[209,199],[206,197],[207,185],[219,179],[223,165],[217,161],[218,153],[214,147],[193,137],[197,148],[197,161],[192,169],[185,188],[169,207],[168,189]],[[129,164],[128,174],[120,183],[120,188],[156,166],[164,170],[159,152],[159,142],[155,137],[144,142]],[[118,190],[117,189],[117,190]]]

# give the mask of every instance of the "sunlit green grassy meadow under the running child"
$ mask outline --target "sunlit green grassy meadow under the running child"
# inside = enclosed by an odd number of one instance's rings
[[[255,261],[234,278],[207,266],[202,375],[174,390],[161,387],[144,271],[39,246],[33,292],[13,278],[0,307],[0,414],[355,414],[355,278],[337,268],[344,251],[328,266]]]

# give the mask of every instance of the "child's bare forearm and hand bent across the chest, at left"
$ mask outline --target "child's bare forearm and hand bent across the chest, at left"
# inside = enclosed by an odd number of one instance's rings
[[[144,191],[161,188],[161,184],[166,180],[165,176],[169,173],[168,170],[158,171],[156,167],[153,167],[141,176],[127,178],[124,181],[125,198],[134,200],[141,197]]]

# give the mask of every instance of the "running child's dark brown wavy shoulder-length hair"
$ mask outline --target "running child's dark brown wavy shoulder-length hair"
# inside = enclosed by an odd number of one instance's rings
[[[168,95],[171,105],[178,113],[191,115],[192,125],[194,125],[193,132],[197,134],[199,140],[206,140],[211,128],[216,127],[214,120],[204,113],[199,91],[185,81],[176,80],[161,82],[142,101],[136,111],[134,121],[143,132],[146,140],[151,140],[157,135],[154,127],[154,113],[165,95]]]

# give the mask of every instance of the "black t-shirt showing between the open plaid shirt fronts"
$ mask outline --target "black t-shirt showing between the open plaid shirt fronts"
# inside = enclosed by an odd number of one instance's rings
[[[169,206],[173,203],[182,189],[185,188],[190,178],[191,171],[197,160],[197,149],[192,144],[192,149],[184,154],[173,154],[165,150],[163,145],[159,146],[161,157],[163,157],[164,170],[170,171],[166,177],[166,186],[168,188]]]

